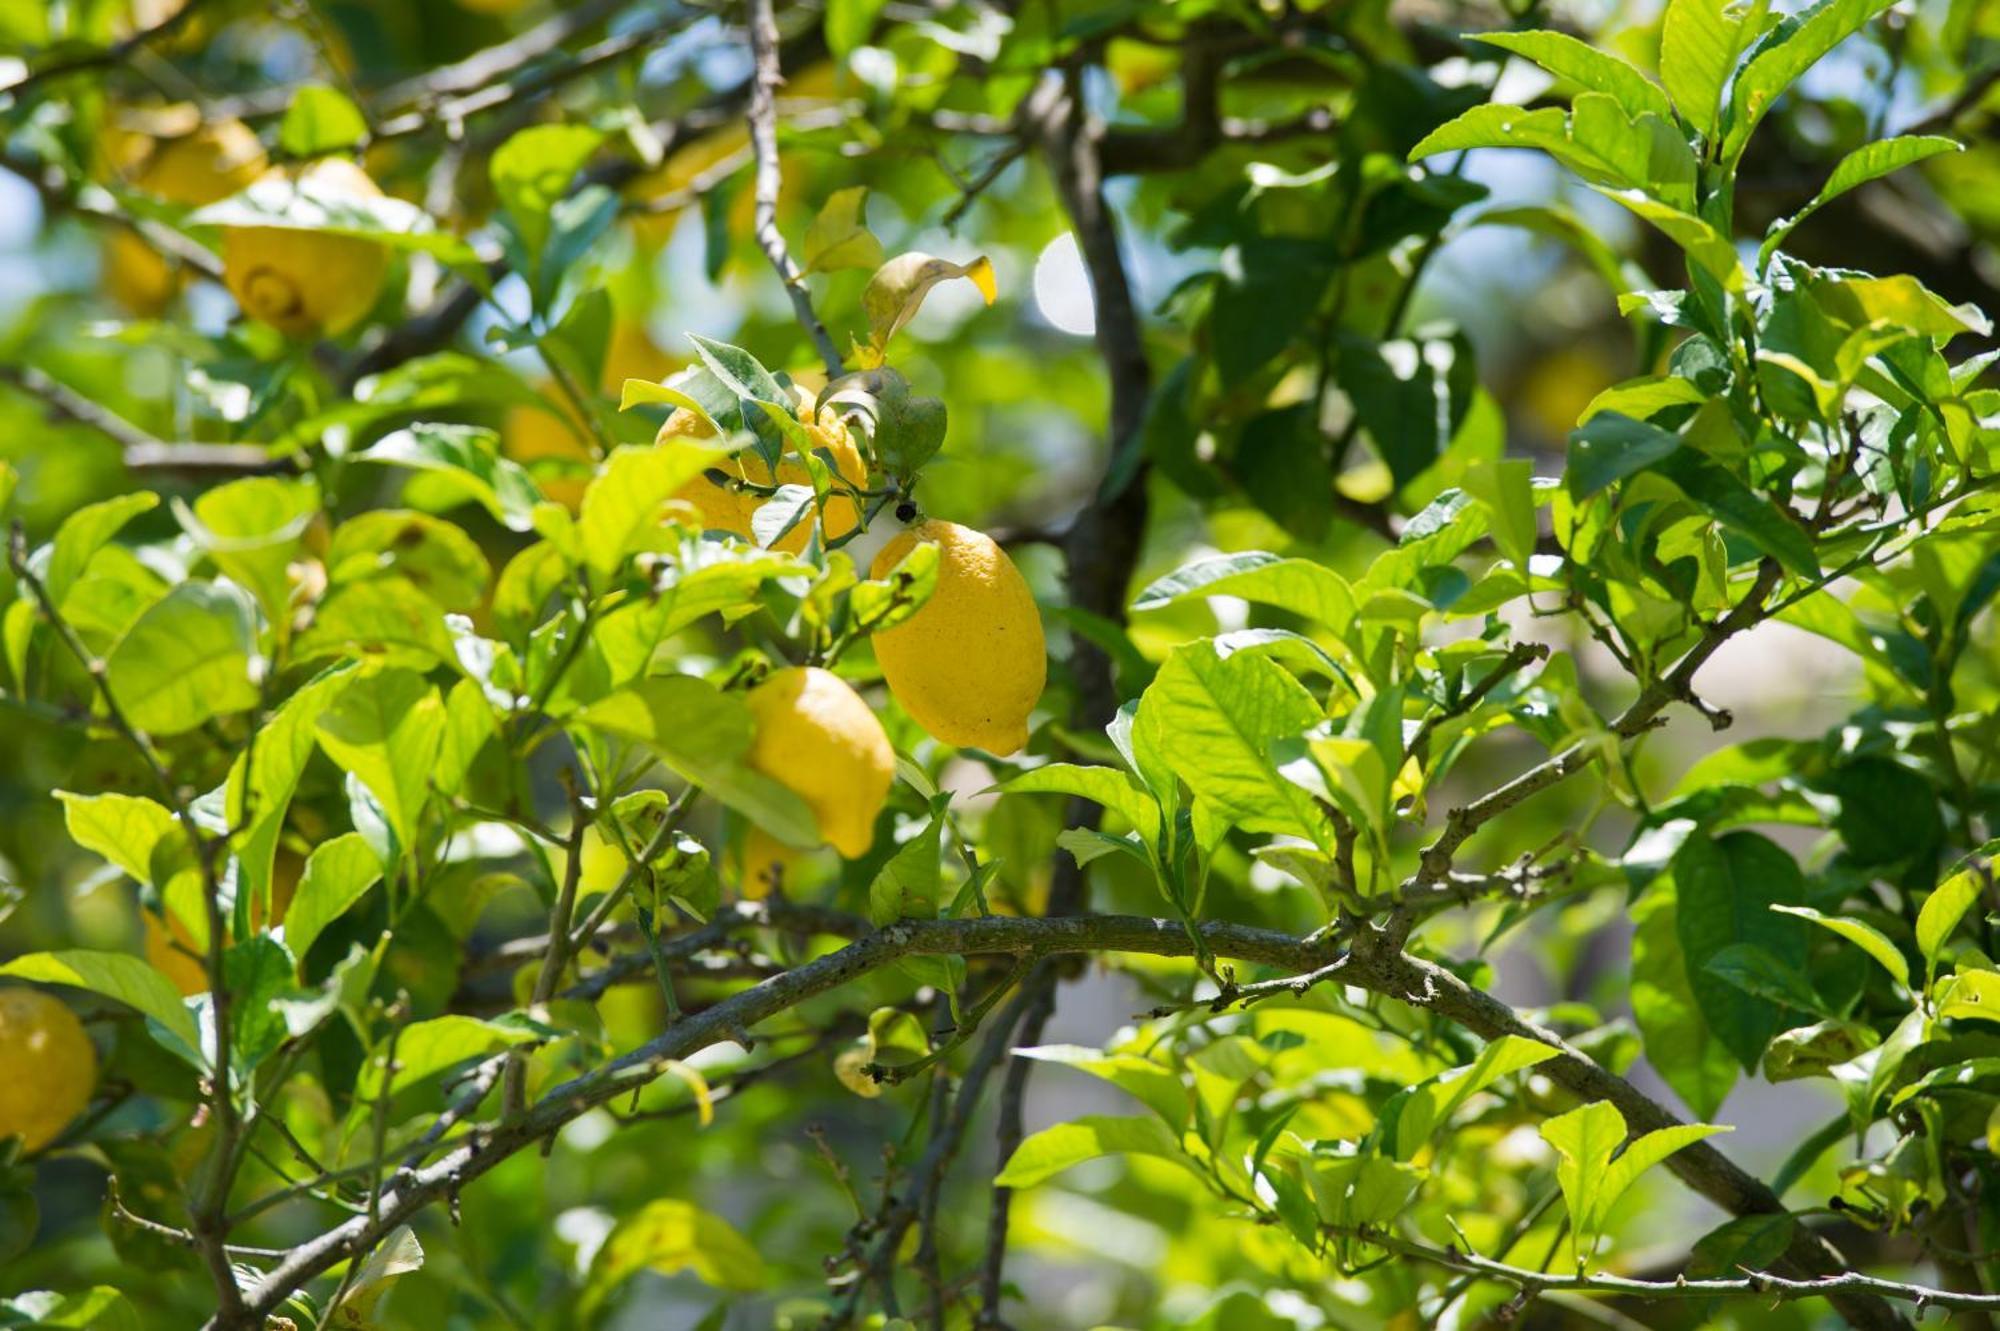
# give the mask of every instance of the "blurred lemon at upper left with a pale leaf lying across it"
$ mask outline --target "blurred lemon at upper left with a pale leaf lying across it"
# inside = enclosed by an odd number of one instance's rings
[[[352,162],[322,158],[284,178],[332,196],[380,196]],[[290,338],[338,334],[374,306],[388,250],[360,236],[290,226],[232,226],[222,234],[222,280],[244,314]]]

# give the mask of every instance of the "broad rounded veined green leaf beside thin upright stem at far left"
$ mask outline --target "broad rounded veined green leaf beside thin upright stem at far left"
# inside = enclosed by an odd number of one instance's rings
[[[250,596],[232,584],[182,582],[118,640],[104,681],[132,725],[180,735],[256,707],[262,671]]]

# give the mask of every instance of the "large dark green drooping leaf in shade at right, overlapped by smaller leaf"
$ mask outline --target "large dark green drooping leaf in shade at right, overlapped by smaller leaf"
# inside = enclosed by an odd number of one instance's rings
[[[1770,909],[1804,905],[1804,877],[1788,853],[1754,831],[1722,837],[1698,831],[1674,855],[1674,887],[1688,983],[1710,1029],[1750,1071],[1778,1033],[1782,1013],[1768,997],[1712,977],[1708,965],[1728,947],[1756,945],[1792,971],[1804,967],[1804,927]]]

